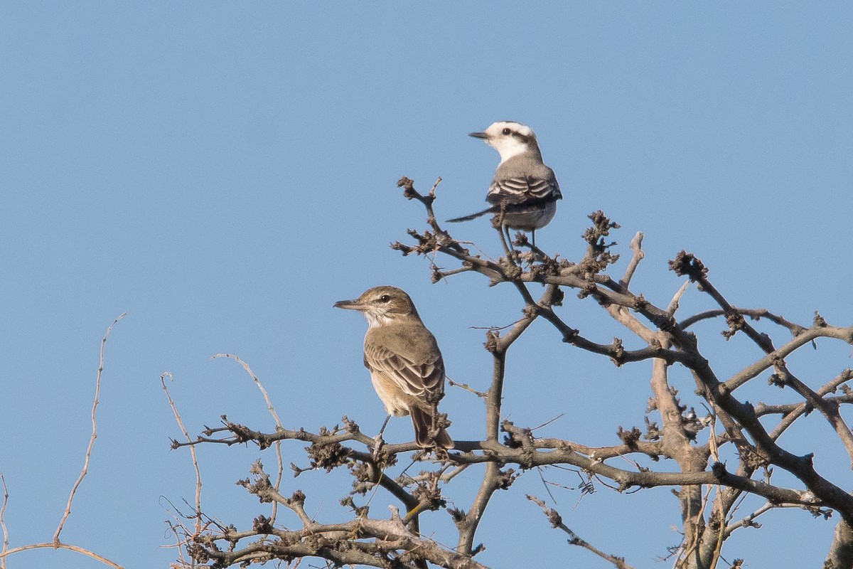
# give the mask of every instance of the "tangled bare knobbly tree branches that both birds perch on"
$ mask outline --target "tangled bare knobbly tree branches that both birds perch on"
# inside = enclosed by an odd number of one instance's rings
[[[679,253],[670,261],[670,270],[678,276],[688,276],[665,307],[654,305],[642,294],[632,292],[631,282],[645,253],[642,234],[631,241],[632,255],[618,280],[609,273],[619,262],[611,233],[618,224],[606,218],[603,212],[593,212],[591,226],[583,234],[586,250],[572,262],[551,257],[538,247],[533,247],[523,233],[515,235],[510,247],[500,227],[502,256],[490,258],[476,245],[456,241],[438,224],[434,211],[436,189],[441,179],[427,195],[421,195],[409,178],[397,183],[403,196],[417,200],[427,212],[427,229],[409,229],[414,243],[396,242],[392,248],[403,255],[424,255],[430,259],[432,282],[452,278],[462,272],[485,277],[485,284],[495,286],[507,283],[518,294],[517,302],[522,312],[518,321],[505,328],[490,328],[486,333],[485,348],[492,355],[492,379],[486,392],[477,392],[466,384],[450,381],[451,386],[461,386],[473,392],[485,405],[483,434],[478,440],[456,440],[455,448],[440,456],[438,466],[427,468],[416,475],[405,471],[393,478],[397,457],[402,453],[415,453],[415,462],[426,463],[430,455],[414,442],[386,444],[377,450],[374,439],[360,432],[359,427],[346,417],[342,426],[321,427],[318,430],[285,429],[276,417],[275,433],[264,433],[252,427],[235,424],[223,416],[221,427],[207,428],[194,440],[178,443],[194,447],[196,444],[224,444],[252,442],[260,450],[288,440],[304,441],[309,445],[305,452],[309,466],[291,464],[295,475],[305,470],[322,468],[327,471],[345,467],[354,477],[353,491],[342,503],[352,509],[354,517],[334,523],[318,523],[305,512],[306,497],[296,492],[291,497],[281,496],[278,485],[270,478],[260,463],[252,468],[254,481],[241,481],[248,491],[261,498],[291,509],[301,521],[299,530],[284,530],[273,520],[258,516],[251,530],[237,531],[223,524],[211,523],[209,529],[197,532],[193,543],[186,548],[190,556],[200,563],[215,562],[218,566],[264,563],[269,560],[294,560],[308,556],[319,557],[333,565],[359,564],[383,567],[419,567],[427,562],[442,567],[479,567],[473,556],[485,549],[477,537],[486,508],[498,490],[509,490],[514,480],[526,471],[541,467],[576,470],[590,482],[595,480],[616,491],[638,491],[669,487],[678,496],[681,505],[680,522],[683,540],[670,549],[679,569],[714,569],[724,560],[723,543],[734,531],[757,526],[756,519],[775,508],[802,508],[809,514],[828,517],[838,513],[837,539],[830,552],[834,562],[842,562],[845,555],[853,555],[853,538],[848,539],[850,521],[853,520],[853,496],[830,479],[815,472],[812,456],[797,456],[779,444],[780,434],[810,410],[818,409],[836,430],[836,436],[845,444],[853,462],[853,433],[842,420],[839,407],[853,403],[853,392],[844,383],[853,372],[845,370],[819,389],[813,390],[788,369],[786,358],[818,338],[853,343],[853,327],[843,328],[828,324],[815,316],[809,326],[790,322],[766,309],[742,309],[733,305],[707,278],[708,270],[691,253]],[[500,218],[497,218],[500,225]],[[474,253],[467,245],[472,246]],[[517,247],[517,248],[516,248]],[[455,266],[439,267],[441,255]],[[719,308],[685,316],[676,320],[676,311],[689,283],[696,283]],[[539,299],[531,293],[531,283],[545,285]],[[611,316],[618,333],[601,341],[581,334],[583,322],[575,313],[566,313],[560,306],[567,292],[574,291],[578,299],[592,299]],[[699,336],[693,324],[723,316],[728,329],[727,338],[742,332],[764,353],[755,361],[741,364],[736,374],[721,380],[715,363],[700,349]],[[505,371],[510,348],[537,318],[551,325],[566,345],[606,356],[618,366],[650,361],[648,374],[651,398],[646,409],[646,431],[638,427],[618,427],[617,444],[583,444],[567,438],[537,438],[534,429],[516,425],[502,417]],[[780,347],[776,347],[769,334],[759,332],[746,322],[767,319],[792,334]],[[578,322],[576,322],[576,320]],[[626,350],[620,334],[639,339],[643,347]],[[612,337],[612,341],[609,338]],[[235,358],[235,357],[234,357]],[[235,358],[237,359],[237,358]],[[239,360],[238,360],[239,361]],[[680,393],[670,380],[669,368],[678,363],[688,369],[695,382],[696,391]],[[257,381],[245,364],[244,368]],[[792,403],[757,404],[738,398],[738,388],[772,369],[771,382],[776,386],[791,387],[798,398]],[[844,393],[831,395],[838,388]],[[270,399],[267,401],[271,409]],[[697,410],[699,409],[699,413]],[[702,409],[705,409],[703,412]],[[654,417],[649,414],[659,414]],[[759,421],[760,417],[765,417]],[[771,419],[775,427],[765,427]],[[722,430],[717,427],[721,426]],[[615,426],[614,426],[615,427]],[[706,433],[701,434],[700,433]],[[705,440],[707,437],[707,440]],[[502,439],[501,439],[502,438]],[[699,442],[701,439],[702,442]],[[734,448],[733,448],[734,445]],[[722,458],[728,457],[728,458]],[[733,458],[734,457],[734,458]],[[723,461],[732,466],[729,469]],[[658,462],[669,462],[657,467]],[[482,466],[480,466],[482,465]],[[793,475],[793,482],[782,486],[771,479],[774,470],[785,470]],[[478,473],[479,488],[472,492],[467,511],[445,505],[443,486],[454,482],[458,473]],[[281,470],[280,470],[281,472]],[[547,480],[543,482],[554,485]],[[405,509],[402,518],[397,508],[392,508],[390,520],[377,520],[369,516],[369,504],[359,506],[358,496],[376,490],[387,491]],[[583,484],[581,491],[589,491]],[[735,520],[735,514],[746,496],[762,496],[766,503],[751,514]],[[628,567],[624,560],[605,554],[584,542],[565,525],[554,510],[544,502],[537,502],[552,520],[572,537],[570,543],[579,545],[601,556],[617,567]],[[455,496],[455,503],[460,499]],[[421,512],[446,508],[456,523],[458,540],[455,551],[439,545],[421,535]],[[851,533],[853,535],[853,533]],[[829,560],[830,557],[827,557]],[[828,563],[828,561],[827,561]],[[735,560],[733,566],[740,566]],[[828,565],[827,565],[828,566]]]

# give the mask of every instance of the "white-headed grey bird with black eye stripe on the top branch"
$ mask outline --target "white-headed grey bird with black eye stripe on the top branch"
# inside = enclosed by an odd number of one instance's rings
[[[536,230],[554,219],[557,200],[563,198],[554,171],[542,160],[536,135],[527,125],[499,120],[485,131],[472,132],[469,136],[482,138],[501,155],[485,197],[491,206],[482,212],[448,219],[448,223],[495,213],[502,215],[501,224],[508,239],[509,229],[530,231],[536,247]]]

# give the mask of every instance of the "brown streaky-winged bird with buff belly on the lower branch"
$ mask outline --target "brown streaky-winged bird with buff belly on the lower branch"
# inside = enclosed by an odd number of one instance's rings
[[[364,367],[388,411],[378,441],[391,415],[410,415],[419,447],[452,449],[453,439],[438,425],[444,360],[409,294],[397,287],[373,287],[357,299],[340,300],[334,306],[360,311],[368,321]]]

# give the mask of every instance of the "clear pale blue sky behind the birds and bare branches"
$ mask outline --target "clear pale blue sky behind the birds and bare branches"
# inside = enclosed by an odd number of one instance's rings
[[[645,233],[635,287],[657,304],[681,284],[666,261],[687,249],[736,305],[849,324],[851,26],[848,3],[3,6],[0,471],[11,546],[53,536],[90,434],[99,343],[122,312],[90,473],[63,538],[127,567],[176,557],[162,548],[168,501],[194,492],[189,453],[169,450],[179,431],[163,372],[191,433],[222,414],[273,428],[243,370],[209,359],[223,351],[252,365],[285,426],[316,430],[346,414],[372,433],[384,410],[361,363],[365,324],[332,305],[393,284],[415,299],[450,376],[485,388],[490,357],[471,327],[513,322],[513,292],[467,275],[431,285],[427,261],[388,244],[424,227],[395,188],[403,175],[422,190],[444,178],[440,217],[483,205],[497,154],[467,133],[498,119],[531,125],[560,179],[565,199],[537,235],[546,250],[579,257],[586,216],[602,209],[623,226],[620,246]],[[452,229],[499,251],[484,219]],[[708,306],[693,289],[682,305]],[[591,301],[566,311],[596,340],[630,341]],[[720,326],[701,330],[725,375],[757,355],[741,339],[726,345]],[[517,423],[565,414],[543,436],[601,445],[618,426],[642,425],[650,365],[615,369],[542,322],[510,355],[504,410]],[[793,369],[816,387],[849,355],[822,343]],[[450,390],[442,407],[456,438],[479,438],[473,397]],[[409,429],[392,421],[386,434]],[[814,450],[821,473],[849,476],[819,417],[782,442]],[[305,465],[301,445],[286,449]],[[199,454],[208,514],[248,525],[262,513],[233,483],[257,456],[272,465],[269,451]],[[339,489],[324,494],[321,473],[287,478],[284,491],[304,489],[318,518],[334,519],[349,482],[332,479]],[[484,563],[535,554],[543,566],[607,566],[567,546],[525,492],[544,496],[537,473],[490,505]],[[668,490],[556,497],[567,525],[635,566],[657,566],[678,541]],[[374,513],[391,503],[374,501]],[[432,516],[439,532],[450,523]],[[601,523],[620,518],[616,530]],[[747,567],[815,565],[834,527],[798,510],[763,521],[725,553]],[[44,550],[9,559],[46,564],[98,566]]]

